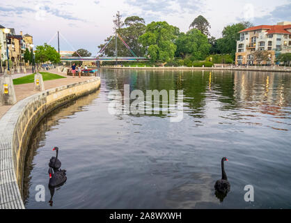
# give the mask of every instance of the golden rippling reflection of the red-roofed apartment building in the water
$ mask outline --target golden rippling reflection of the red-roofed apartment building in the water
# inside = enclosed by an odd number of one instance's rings
[[[275,72],[235,72],[235,98],[239,107],[263,114],[285,115],[290,104],[290,74]]]

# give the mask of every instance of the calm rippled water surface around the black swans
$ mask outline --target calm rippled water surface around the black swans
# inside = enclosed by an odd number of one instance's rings
[[[291,76],[274,72],[102,70],[100,91],[49,114],[33,132],[26,208],[291,208]],[[109,92],[184,90],[184,118],[111,115]],[[67,182],[51,194],[60,148]],[[231,190],[214,194],[221,157]],[[45,202],[36,202],[45,185]],[[244,201],[253,185],[255,201]]]

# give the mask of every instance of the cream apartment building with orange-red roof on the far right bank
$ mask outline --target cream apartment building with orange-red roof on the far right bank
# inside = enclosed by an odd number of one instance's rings
[[[239,31],[236,65],[256,65],[253,53],[266,50],[268,59],[260,64],[274,64],[278,54],[291,52],[291,22],[278,22],[276,25],[253,26]]]

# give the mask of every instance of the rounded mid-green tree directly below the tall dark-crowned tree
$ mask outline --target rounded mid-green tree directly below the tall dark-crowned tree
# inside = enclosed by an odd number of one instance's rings
[[[191,29],[187,33],[180,33],[175,40],[177,50],[175,56],[191,56],[194,61],[204,60],[209,54],[211,45],[208,43],[207,36],[198,29]]]

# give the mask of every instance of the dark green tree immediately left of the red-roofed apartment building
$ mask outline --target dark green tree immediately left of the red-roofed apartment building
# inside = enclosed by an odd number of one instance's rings
[[[237,40],[239,39],[239,31],[246,29],[249,22],[239,22],[237,24],[228,25],[222,31],[222,38],[217,40],[217,49],[221,54],[231,54],[235,58],[237,49]]]

